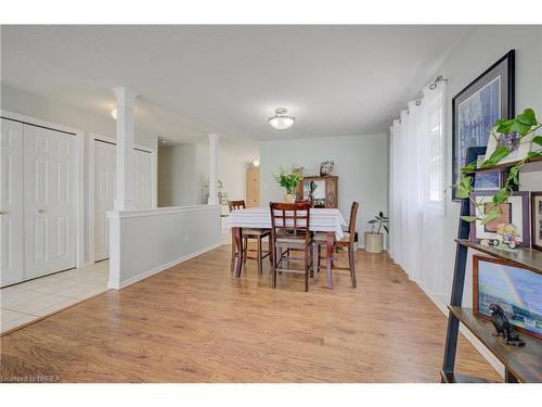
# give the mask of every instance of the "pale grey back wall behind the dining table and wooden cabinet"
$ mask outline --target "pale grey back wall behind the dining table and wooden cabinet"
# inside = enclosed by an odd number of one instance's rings
[[[352,201],[360,203],[358,232],[369,230],[367,220],[379,211],[388,213],[388,135],[262,141],[260,154],[261,205],[284,201],[284,190],[273,178],[281,165],[301,165],[305,175],[318,175],[320,163],[333,160],[339,209],[347,221]]]

